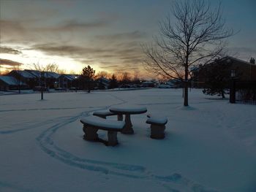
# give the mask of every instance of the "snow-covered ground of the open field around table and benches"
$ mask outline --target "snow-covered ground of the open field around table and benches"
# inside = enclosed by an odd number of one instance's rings
[[[0,96],[0,191],[256,191],[256,107],[182,90]],[[83,140],[80,118],[121,104],[168,118],[151,139],[146,114],[119,145]],[[111,116],[110,119],[116,119]],[[106,132],[99,131],[106,139]]]

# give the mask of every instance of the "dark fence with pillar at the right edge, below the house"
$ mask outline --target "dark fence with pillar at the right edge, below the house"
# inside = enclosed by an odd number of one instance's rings
[[[256,104],[256,81],[233,80],[230,86],[230,103]]]

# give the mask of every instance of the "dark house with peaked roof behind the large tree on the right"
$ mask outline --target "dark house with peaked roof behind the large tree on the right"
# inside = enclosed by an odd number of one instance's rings
[[[238,58],[233,58],[230,56],[225,56],[223,58],[219,58],[217,61],[213,61],[204,66],[199,66],[197,69],[192,71],[192,82],[195,87],[203,88],[204,82],[206,81],[206,71],[211,70],[214,64],[223,64],[228,67],[228,77],[227,79],[231,79],[232,77],[236,77],[237,80],[241,81],[256,81],[256,64],[255,60],[251,58],[250,62],[242,61]]]

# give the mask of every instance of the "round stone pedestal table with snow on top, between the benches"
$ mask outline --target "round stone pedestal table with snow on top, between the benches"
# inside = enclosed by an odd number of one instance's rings
[[[123,115],[125,115],[125,126],[121,131],[122,134],[133,134],[132,129],[131,115],[142,114],[147,112],[146,107],[138,106],[117,106],[110,107],[110,112],[113,112],[118,115],[118,120],[123,120]]]

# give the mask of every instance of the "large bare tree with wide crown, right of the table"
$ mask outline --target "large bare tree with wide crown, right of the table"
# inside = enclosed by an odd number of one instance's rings
[[[184,106],[188,106],[188,80],[195,66],[222,54],[224,39],[233,35],[225,28],[221,4],[211,9],[204,0],[176,1],[159,23],[160,38],[143,45],[146,69],[167,79],[182,80]]]

